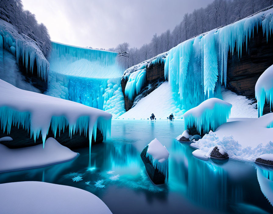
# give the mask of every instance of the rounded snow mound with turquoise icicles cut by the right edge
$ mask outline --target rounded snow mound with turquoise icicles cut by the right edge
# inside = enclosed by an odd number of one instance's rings
[[[273,20],[272,20],[273,25]],[[264,104],[267,102],[270,108],[273,104],[273,65],[261,74],[255,85],[255,97],[259,116],[263,115]]]

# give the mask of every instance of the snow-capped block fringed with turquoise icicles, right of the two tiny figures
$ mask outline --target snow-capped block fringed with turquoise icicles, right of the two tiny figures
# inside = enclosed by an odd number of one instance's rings
[[[232,105],[218,98],[210,98],[185,112],[185,130],[196,127],[199,133],[208,133],[227,122]]]

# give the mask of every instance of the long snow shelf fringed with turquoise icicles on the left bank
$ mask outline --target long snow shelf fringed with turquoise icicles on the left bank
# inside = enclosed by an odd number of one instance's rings
[[[76,131],[89,133],[91,144],[93,130],[96,139],[97,127],[104,137],[111,129],[112,115],[99,109],[90,108],[80,103],[25,91],[0,80],[0,120],[3,131],[10,132],[12,124],[22,125],[30,130],[34,140],[42,136],[43,144],[52,127],[56,135],[69,126],[70,135]],[[15,102],[16,101],[16,102]]]

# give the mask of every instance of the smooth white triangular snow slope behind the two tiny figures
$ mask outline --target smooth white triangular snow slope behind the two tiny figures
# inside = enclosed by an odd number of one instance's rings
[[[157,89],[142,98],[136,106],[125,112],[119,119],[147,119],[154,113],[157,119],[167,119],[173,113],[175,119],[181,119],[185,111],[177,108],[172,97],[171,87],[165,81]]]

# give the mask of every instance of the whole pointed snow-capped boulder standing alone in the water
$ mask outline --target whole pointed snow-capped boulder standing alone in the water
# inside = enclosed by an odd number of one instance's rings
[[[169,152],[156,138],[144,148],[140,157],[154,184],[164,184],[166,179],[168,181]]]

